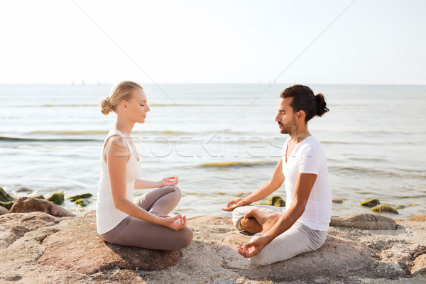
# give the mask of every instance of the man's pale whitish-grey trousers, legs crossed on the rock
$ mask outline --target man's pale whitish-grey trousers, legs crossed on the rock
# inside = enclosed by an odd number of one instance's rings
[[[255,205],[237,207],[232,212],[232,221],[237,229],[241,229],[241,218],[243,218],[251,209],[256,208],[268,214],[285,212],[285,207],[275,207],[270,205]],[[261,234],[256,234],[251,238]],[[277,236],[271,243],[265,246],[257,256],[250,258],[251,263],[261,266],[266,266],[278,261],[285,261],[302,253],[316,251],[320,249],[327,239],[327,231],[312,230],[302,222],[295,222],[283,234]]]

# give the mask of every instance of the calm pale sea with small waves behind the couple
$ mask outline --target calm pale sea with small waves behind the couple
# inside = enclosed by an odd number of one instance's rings
[[[231,216],[227,202],[267,182],[287,135],[275,121],[290,84],[144,84],[148,112],[131,136],[140,178],[179,177],[172,214]],[[109,84],[0,84],[0,187],[15,197],[92,193],[64,206],[96,208],[102,144],[116,120],[101,113]],[[332,215],[371,212],[360,202],[426,214],[426,86],[310,85],[329,112],[309,122],[327,155]],[[135,197],[148,190],[135,190]],[[284,185],[274,195],[285,200]],[[266,202],[262,200],[260,202]]]

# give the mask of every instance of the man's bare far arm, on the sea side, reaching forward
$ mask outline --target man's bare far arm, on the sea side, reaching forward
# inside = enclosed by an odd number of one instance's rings
[[[224,211],[232,211],[236,207],[244,206],[251,204],[252,202],[256,202],[258,200],[262,200],[263,198],[271,195],[272,192],[277,190],[284,181],[283,175],[283,159],[280,159],[278,164],[275,166],[275,170],[273,170],[273,175],[271,180],[265,182],[261,187],[258,188],[255,192],[253,192],[248,197],[239,197],[230,202],[228,202],[227,207],[222,208]]]

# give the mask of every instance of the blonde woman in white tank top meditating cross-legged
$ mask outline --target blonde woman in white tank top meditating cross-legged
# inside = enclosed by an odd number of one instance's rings
[[[169,217],[180,200],[178,177],[158,182],[141,180],[139,156],[130,137],[134,124],[143,124],[150,111],[143,88],[131,81],[116,84],[101,99],[102,114],[114,111],[116,123],[105,138],[97,195],[97,231],[112,244],[145,249],[175,250],[189,246],[192,230],[186,216]],[[137,197],[133,190],[160,187]]]

